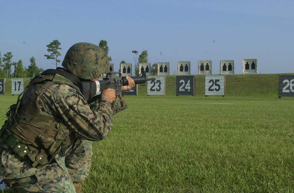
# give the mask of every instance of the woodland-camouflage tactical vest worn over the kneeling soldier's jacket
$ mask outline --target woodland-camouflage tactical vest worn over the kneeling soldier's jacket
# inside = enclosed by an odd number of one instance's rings
[[[68,74],[70,79],[65,77]],[[62,70],[46,70],[32,79],[20,94],[17,104],[11,105],[6,114],[8,119],[2,126],[0,137],[8,148],[32,167],[42,168],[50,163],[52,156],[76,137],[58,114],[42,111],[40,97],[54,84],[69,85],[79,91],[78,81],[78,77]]]

